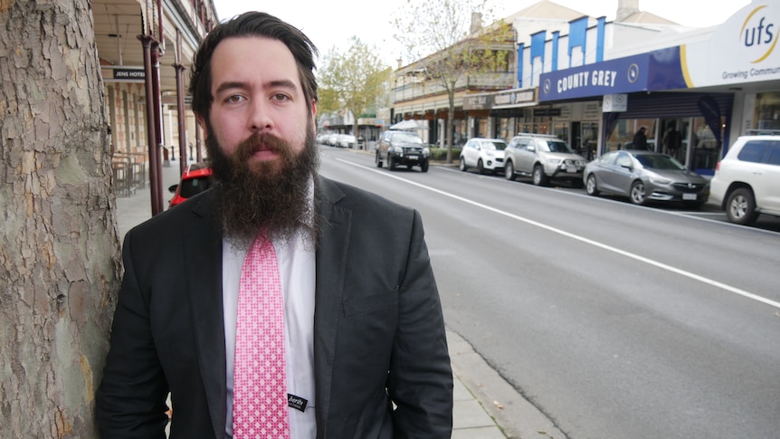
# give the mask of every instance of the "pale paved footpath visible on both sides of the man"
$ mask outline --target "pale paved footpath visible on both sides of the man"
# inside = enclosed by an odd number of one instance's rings
[[[162,170],[163,200],[167,206],[178,183],[179,162],[170,161]],[[117,196],[119,242],[134,225],[151,217],[151,191],[147,184]],[[454,375],[452,439],[564,439],[541,414],[477,354],[471,345],[447,329],[447,342]]]

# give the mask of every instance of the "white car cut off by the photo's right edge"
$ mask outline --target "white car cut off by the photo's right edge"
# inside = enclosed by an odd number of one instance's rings
[[[780,135],[737,138],[715,167],[710,186],[712,201],[732,223],[780,216]]]

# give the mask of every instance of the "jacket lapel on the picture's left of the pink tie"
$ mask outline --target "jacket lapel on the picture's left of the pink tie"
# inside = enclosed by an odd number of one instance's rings
[[[208,399],[215,437],[224,436],[225,385],[222,296],[222,236],[214,223],[211,193],[200,197],[192,214],[200,221],[185,222],[183,230],[186,285],[192,313],[195,348]]]

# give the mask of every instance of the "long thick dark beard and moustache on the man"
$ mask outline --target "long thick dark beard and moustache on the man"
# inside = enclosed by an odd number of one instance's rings
[[[214,130],[209,127],[209,132]],[[302,230],[307,244],[316,248],[317,203],[309,201],[309,191],[318,194],[319,156],[313,129],[307,129],[298,154],[286,140],[267,133],[247,138],[232,156],[224,154],[214,136],[206,138],[205,145],[214,169],[215,215],[226,241],[241,245],[265,229],[272,239],[286,242]],[[250,166],[249,157],[261,146],[279,154],[281,162]]]

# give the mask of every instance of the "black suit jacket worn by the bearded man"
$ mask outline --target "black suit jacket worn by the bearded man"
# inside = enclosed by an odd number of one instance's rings
[[[449,438],[452,370],[420,215],[319,178],[318,438]],[[104,438],[223,438],[222,236],[206,191],[133,228],[96,400]],[[395,407],[394,407],[395,406]]]

